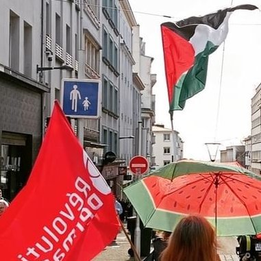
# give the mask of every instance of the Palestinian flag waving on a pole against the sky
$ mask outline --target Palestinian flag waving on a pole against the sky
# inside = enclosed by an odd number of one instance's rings
[[[162,23],[170,112],[183,110],[186,99],[203,90],[206,84],[208,55],[225,40],[229,16],[240,9],[258,8],[255,5],[238,5],[206,16],[192,16],[177,23]]]

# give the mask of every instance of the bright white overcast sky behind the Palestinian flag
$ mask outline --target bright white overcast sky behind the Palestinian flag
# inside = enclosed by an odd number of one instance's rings
[[[145,54],[154,58],[151,73],[156,95],[156,123],[171,128],[160,24],[190,16],[203,16],[219,9],[251,3],[261,10],[260,0],[129,0]],[[243,145],[251,135],[251,98],[261,83],[261,12],[236,10],[229,18],[225,43],[209,57],[205,89],[175,111],[173,127],[184,141],[184,158],[210,160],[207,142],[219,142],[220,149]],[[171,16],[166,18],[165,16]],[[219,159],[219,151],[216,160]]]

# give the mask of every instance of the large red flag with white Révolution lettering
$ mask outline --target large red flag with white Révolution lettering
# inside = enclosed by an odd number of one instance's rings
[[[27,185],[0,218],[0,259],[88,261],[118,231],[110,187],[55,101]]]

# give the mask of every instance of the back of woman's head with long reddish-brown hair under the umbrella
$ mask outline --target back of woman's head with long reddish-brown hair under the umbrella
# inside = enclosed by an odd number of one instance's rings
[[[161,260],[216,260],[216,235],[213,227],[201,216],[184,217],[171,234]]]

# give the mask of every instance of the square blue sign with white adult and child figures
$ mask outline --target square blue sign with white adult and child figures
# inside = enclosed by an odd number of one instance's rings
[[[61,105],[66,116],[99,118],[100,97],[100,81],[97,79],[62,79]]]

